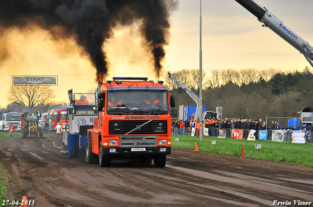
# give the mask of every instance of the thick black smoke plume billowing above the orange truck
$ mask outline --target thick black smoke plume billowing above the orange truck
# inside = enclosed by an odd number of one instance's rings
[[[30,23],[51,34],[53,28],[62,28],[84,47],[97,74],[106,76],[108,62],[102,45],[112,36],[112,28],[141,20],[140,31],[159,77],[169,38],[169,12],[177,5],[178,0],[0,0],[0,30]]]

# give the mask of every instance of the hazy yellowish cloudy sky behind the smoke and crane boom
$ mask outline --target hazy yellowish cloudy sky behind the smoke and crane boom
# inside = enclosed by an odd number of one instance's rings
[[[312,0],[255,0],[280,19],[299,37],[313,45]],[[202,0],[202,70],[257,68],[302,71],[312,67],[305,57],[277,36],[235,0]],[[199,68],[200,0],[179,0],[171,13],[171,37],[165,47],[162,74]],[[96,69],[74,40],[53,39],[36,26],[26,31],[10,28],[0,36],[8,56],[0,63],[0,108],[8,104],[4,94],[12,85],[12,75],[57,75],[51,86],[56,101],[68,103],[67,91],[86,93],[95,87]],[[113,29],[103,45],[110,62],[109,76],[145,76],[157,80],[151,57],[142,47],[138,25]]]

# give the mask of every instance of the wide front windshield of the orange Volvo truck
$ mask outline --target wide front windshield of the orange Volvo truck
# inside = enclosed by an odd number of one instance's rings
[[[168,114],[168,91],[108,91],[108,114]]]

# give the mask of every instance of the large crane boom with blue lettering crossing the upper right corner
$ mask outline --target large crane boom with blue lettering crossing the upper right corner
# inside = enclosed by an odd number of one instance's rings
[[[253,0],[235,1],[237,1],[240,5],[245,7],[246,10],[248,10],[255,17],[257,17],[260,22],[264,23],[262,26],[268,27],[279,37],[283,38],[289,44],[291,44],[291,46],[297,49],[301,54],[303,54],[303,56],[305,56],[305,58],[313,67],[313,47],[309,44],[309,42],[300,38],[291,29],[284,25],[281,20],[269,13],[265,7],[261,7]]]

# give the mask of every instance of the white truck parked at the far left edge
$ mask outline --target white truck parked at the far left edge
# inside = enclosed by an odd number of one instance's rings
[[[22,129],[21,113],[9,112],[3,114],[2,120],[0,120],[0,130],[8,132],[10,130],[11,124],[13,124],[14,131],[21,131]]]

